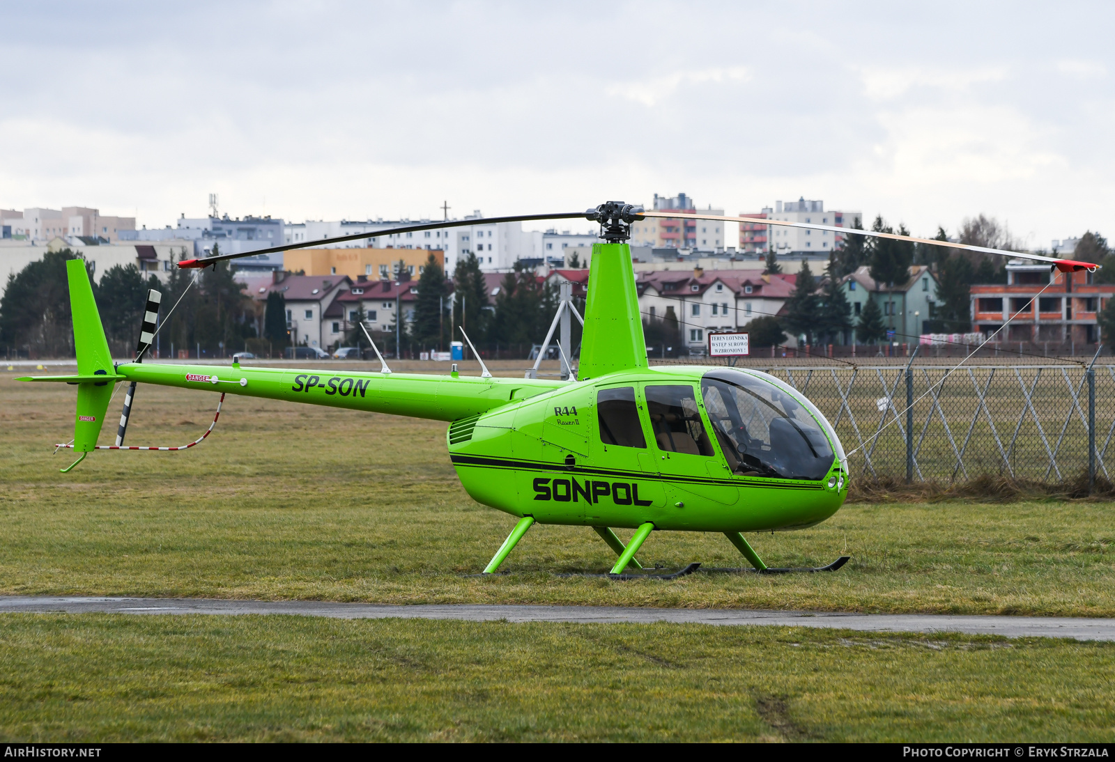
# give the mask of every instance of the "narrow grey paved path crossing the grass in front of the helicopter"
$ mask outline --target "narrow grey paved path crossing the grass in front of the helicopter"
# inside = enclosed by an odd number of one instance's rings
[[[724,608],[620,608],[608,606],[484,606],[330,603],[319,600],[215,600],[204,598],[87,598],[0,596],[0,613],[109,612],[117,614],[300,614],[341,619],[419,618],[467,622],[672,622],[711,625],[840,627],[861,632],[969,633],[1006,637],[1115,641],[1115,619],[949,614],[840,614]]]

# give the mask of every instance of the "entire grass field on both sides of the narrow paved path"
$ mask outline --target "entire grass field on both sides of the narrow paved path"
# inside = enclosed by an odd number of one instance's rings
[[[197,448],[60,475],[72,389],[11,375],[0,594],[1115,615],[1112,504],[850,505],[750,538],[777,565],[852,555],[836,574],[673,582],[556,577],[611,553],[536,527],[511,574],[476,578],[513,520],[465,495],[442,423],[230,397]],[[143,387],[129,442],[191,441],[215,403]],[[719,535],[656,534],[640,556],[744,565]],[[1113,657],[806,628],[7,614],[0,737],[1108,740]]]

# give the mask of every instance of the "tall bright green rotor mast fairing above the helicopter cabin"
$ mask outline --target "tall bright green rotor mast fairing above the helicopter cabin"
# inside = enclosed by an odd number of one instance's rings
[[[576,378],[594,379],[613,371],[647,367],[639,291],[627,244],[593,244],[584,338]]]

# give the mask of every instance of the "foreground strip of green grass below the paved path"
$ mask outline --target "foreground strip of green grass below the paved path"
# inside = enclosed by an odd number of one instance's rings
[[[1115,644],[773,627],[0,617],[4,741],[1108,741]]]

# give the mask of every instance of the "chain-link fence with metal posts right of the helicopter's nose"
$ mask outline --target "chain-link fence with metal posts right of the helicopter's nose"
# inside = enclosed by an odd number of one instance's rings
[[[824,412],[854,450],[853,475],[1060,482],[1115,473],[1115,365],[746,365]]]

